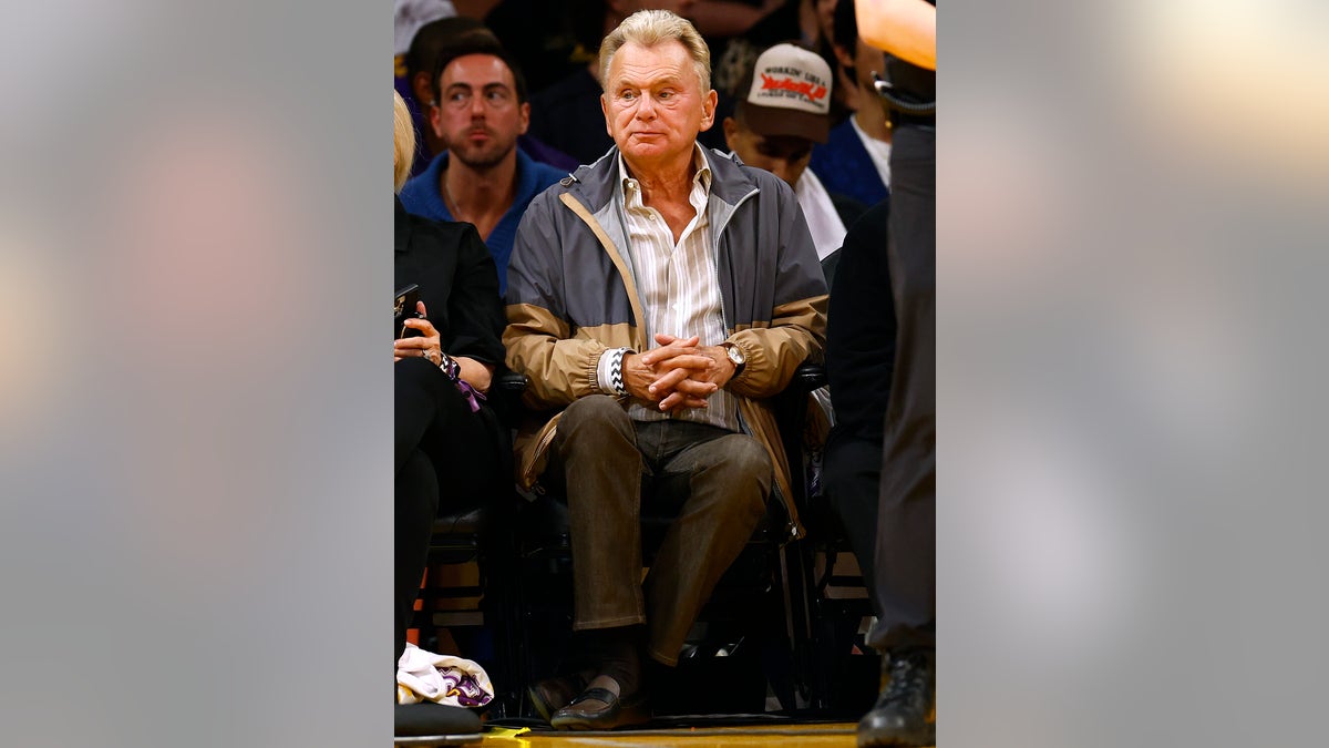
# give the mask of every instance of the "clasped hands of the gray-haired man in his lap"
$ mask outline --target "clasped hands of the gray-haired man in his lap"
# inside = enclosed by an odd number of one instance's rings
[[[706,407],[707,398],[734,377],[734,362],[724,346],[699,346],[700,338],[655,335],[661,347],[623,357],[627,393],[672,413]]]

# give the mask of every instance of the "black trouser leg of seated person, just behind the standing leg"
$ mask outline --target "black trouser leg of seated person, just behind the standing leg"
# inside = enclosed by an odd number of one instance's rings
[[[876,572],[877,511],[881,499],[881,442],[839,437],[827,445],[821,472],[824,491],[849,548],[859,560],[872,611],[881,618],[881,598]]]

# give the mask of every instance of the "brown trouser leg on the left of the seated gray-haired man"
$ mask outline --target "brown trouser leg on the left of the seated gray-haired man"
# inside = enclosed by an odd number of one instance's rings
[[[643,463],[633,421],[611,397],[583,397],[563,411],[552,449],[567,498],[573,628],[643,623]]]

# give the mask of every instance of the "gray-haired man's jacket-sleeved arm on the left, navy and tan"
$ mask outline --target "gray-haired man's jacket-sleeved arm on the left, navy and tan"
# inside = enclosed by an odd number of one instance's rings
[[[562,240],[554,232],[554,196],[526,209],[508,264],[508,367],[530,378],[522,395],[534,409],[561,407],[599,393],[595,369],[605,343],[573,338],[562,303]]]

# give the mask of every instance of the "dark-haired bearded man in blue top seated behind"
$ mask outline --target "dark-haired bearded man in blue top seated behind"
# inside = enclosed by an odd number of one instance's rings
[[[526,205],[565,174],[517,148],[530,124],[526,81],[496,41],[474,39],[445,49],[433,81],[439,105],[429,124],[448,150],[407,182],[401,204],[436,221],[474,224],[494,257],[502,295]]]

